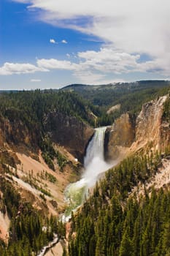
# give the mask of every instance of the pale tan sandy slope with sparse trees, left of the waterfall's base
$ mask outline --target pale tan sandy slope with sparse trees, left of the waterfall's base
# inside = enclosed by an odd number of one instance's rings
[[[63,191],[70,182],[77,180],[80,173],[80,162],[77,162],[66,149],[57,146],[57,151],[61,152],[66,163],[61,170],[55,160],[54,171],[45,163],[41,151],[39,154],[32,154],[28,148],[24,150],[22,147],[23,152],[20,153],[20,151],[9,148],[9,145],[7,148],[1,152],[3,164],[0,178],[4,178],[9,186],[19,192],[21,200],[30,203],[44,217],[61,214],[65,209]],[[4,195],[1,186],[0,195],[2,202],[0,203],[0,238],[7,240],[11,217],[3,203]]]

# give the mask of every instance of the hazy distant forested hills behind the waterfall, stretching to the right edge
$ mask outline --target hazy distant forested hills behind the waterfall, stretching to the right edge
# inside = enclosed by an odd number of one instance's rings
[[[123,113],[131,113],[137,116],[144,102],[149,102],[156,97],[168,93],[169,81],[165,80],[144,80],[135,83],[111,83],[101,86],[85,86],[73,84],[64,87],[63,91],[75,91],[83,99],[99,108],[98,126],[109,125],[115,118]],[[111,114],[107,110],[112,106],[120,105],[120,109]]]

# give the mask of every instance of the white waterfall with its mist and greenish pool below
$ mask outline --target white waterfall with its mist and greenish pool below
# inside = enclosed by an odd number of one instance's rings
[[[84,158],[84,172],[80,181],[69,184],[65,191],[68,207],[64,213],[64,218],[69,219],[70,214],[85,200],[88,195],[88,189],[93,187],[98,180],[98,176],[104,173],[114,163],[104,161],[104,135],[107,127],[96,128],[92,140],[88,144]]]

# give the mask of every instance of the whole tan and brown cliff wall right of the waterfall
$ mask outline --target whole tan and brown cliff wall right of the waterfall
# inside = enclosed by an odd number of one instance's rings
[[[106,158],[117,159],[136,151],[163,151],[170,142],[169,122],[163,120],[166,99],[164,96],[145,103],[134,125],[127,113],[118,118],[106,132]]]

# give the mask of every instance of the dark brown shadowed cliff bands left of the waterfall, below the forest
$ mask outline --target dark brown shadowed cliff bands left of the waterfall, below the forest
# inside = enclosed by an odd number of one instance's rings
[[[63,113],[50,112],[45,116],[44,131],[41,132],[38,124],[26,125],[16,110],[9,111],[8,118],[0,117],[0,147],[3,150],[8,147],[14,151],[37,154],[41,133],[47,133],[53,143],[63,146],[82,162],[85,148],[94,132],[84,121]]]

